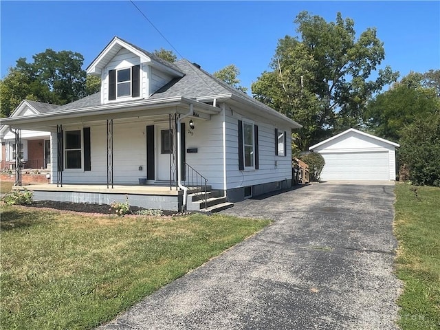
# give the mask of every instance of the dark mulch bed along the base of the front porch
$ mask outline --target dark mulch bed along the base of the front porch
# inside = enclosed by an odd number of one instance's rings
[[[34,201],[32,204],[25,205],[32,208],[54,208],[56,210],[74,211],[83,213],[94,214],[114,214],[111,210],[111,206],[107,204],[91,204],[91,203],[73,203],[71,201]],[[138,210],[145,210],[145,208],[139,208],[137,206],[130,206],[132,214],[135,214]],[[164,215],[176,214],[176,211],[164,210]]]

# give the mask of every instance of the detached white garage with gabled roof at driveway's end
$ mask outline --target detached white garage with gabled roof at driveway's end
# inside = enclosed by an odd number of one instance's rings
[[[348,129],[309,148],[325,159],[321,180],[395,180],[399,144]]]

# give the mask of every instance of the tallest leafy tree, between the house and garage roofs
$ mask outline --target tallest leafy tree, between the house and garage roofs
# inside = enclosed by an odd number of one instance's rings
[[[376,30],[368,28],[356,39],[354,21],[335,22],[300,12],[294,23],[299,37],[278,41],[270,63],[252,84],[257,100],[303,124],[300,146],[329,137],[362,122],[366,101],[384,85],[397,79],[390,67],[380,69],[384,45]]]

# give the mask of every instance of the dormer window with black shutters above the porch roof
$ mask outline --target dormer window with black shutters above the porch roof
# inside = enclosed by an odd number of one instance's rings
[[[118,98],[139,97],[140,65],[131,68],[109,70],[109,100]]]

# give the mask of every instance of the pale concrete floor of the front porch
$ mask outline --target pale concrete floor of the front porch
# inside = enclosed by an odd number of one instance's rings
[[[175,187],[170,190],[170,186],[139,186],[129,184],[113,184],[113,188],[107,188],[107,184],[28,184],[14,189],[28,189],[34,191],[52,191],[52,192],[98,192],[104,194],[129,194],[129,195],[160,195],[177,196],[183,195],[183,190],[176,190]],[[199,190],[198,188],[188,188],[190,191]]]

